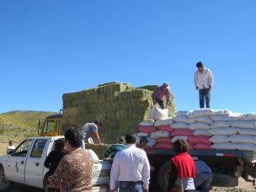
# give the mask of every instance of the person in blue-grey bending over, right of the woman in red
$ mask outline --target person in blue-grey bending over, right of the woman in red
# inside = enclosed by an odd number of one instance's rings
[[[208,192],[212,181],[211,168],[198,157],[193,157],[195,162],[195,189]]]

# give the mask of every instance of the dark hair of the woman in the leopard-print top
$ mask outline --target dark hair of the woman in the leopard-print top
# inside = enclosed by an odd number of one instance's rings
[[[70,127],[65,132],[65,141],[69,141],[72,147],[82,146],[83,132]]]

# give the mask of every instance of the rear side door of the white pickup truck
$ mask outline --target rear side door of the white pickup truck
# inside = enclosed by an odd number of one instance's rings
[[[25,183],[42,188],[43,169],[45,158],[42,158],[45,149],[46,139],[36,139],[32,150],[27,157],[25,167]]]

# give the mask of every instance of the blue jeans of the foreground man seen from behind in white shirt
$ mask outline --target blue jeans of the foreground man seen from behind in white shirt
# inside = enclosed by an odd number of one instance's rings
[[[120,181],[120,192],[142,192],[143,191],[143,182],[125,182]]]

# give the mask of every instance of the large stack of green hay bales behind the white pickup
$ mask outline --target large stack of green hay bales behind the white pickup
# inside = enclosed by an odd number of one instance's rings
[[[63,94],[63,132],[68,126],[81,127],[94,120],[103,120],[99,129],[105,143],[116,142],[116,137],[136,131],[141,120],[147,119],[152,108],[152,90],[157,86],[135,88],[127,83],[104,83],[76,93]],[[174,115],[173,95],[168,107]]]

